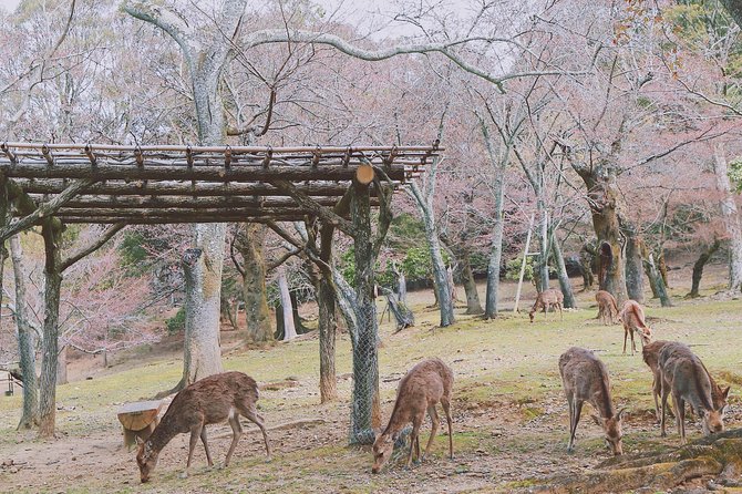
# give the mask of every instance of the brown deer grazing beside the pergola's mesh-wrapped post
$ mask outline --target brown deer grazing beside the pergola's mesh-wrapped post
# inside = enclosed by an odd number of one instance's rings
[[[412,422],[410,435],[410,454],[408,467],[412,464],[413,447],[419,460],[427,456],[433,444],[433,438],[440,425],[435,404],[443,405],[446,422],[449,423],[449,456],[453,460],[453,430],[451,421],[451,389],[453,387],[453,371],[441,359],[427,359],[413,367],[400,381],[396,388],[396,401],[389,418],[387,429],[377,436],[373,443],[373,467],[371,472],[379,473],[392,454],[394,441],[402,429]],[[425,410],[431,418],[431,435],[425,446],[425,453],[420,456],[420,425],[425,416]]]

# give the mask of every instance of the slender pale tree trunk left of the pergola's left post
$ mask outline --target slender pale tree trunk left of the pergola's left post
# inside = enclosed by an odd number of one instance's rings
[[[39,425],[39,382],[37,380],[35,335],[27,315],[25,269],[23,250],[18,235],[10,237],[10,256],[16,280],[16,326],[18,327],[18,353],[23,375],[23,413],[18,429],[32,429]],[[0,275],[1,276],[1,275]]]

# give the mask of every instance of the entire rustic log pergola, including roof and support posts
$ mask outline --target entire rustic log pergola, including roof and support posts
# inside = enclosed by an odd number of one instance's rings
[[[391,222],[393,192],[422,173],[441,151],[437,141],[429,146],[351,147],[0,144],[0,294],[6,240],[35,225],[44,239],[41,388],[50,391],[41,395],[42,433],[53,433],[54,426],[59,302],[69,266],[130,224],[266,223],[291,240],[279,222],[318,220],[318,230],[307,229],[306,250],[321,271],[320,325],[323,315],[327,319],[334,311],[333,231],[338,228],[353,238],[354,294],[348,310],[355,315],[358,329],[351,338],[355,397],[351,422],[355,436],[372,438],[372,422],[378,422],[372,416],[374,400],[378,403],[374,263]],[[379,207],[375,235],[374,206]],[[87,249],[63,258],[68,223],[110,226]],[[187,271],[203,258],[200,249],[186,251],[186,282]],[[320,369],[322,346],[333,351],[333,341],[334,337],[320,338]]]

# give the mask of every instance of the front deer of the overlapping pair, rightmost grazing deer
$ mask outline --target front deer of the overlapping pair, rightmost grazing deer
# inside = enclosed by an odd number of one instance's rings
[[[659,356],[662,421],[661,434],[667,435],[664,418],[668,395],[672,393],[676,405],[676,424],[680,434],[680,444],[686,444],[686,402],[701,418],[703,434],[724,430],[724,406],[717,409],[711,398],[711,379],[703,362],[690,348],[678,342],[668,342]],[[729,389],[725,393],[729,393]],[[724,394],[724,401],[726,397]]]

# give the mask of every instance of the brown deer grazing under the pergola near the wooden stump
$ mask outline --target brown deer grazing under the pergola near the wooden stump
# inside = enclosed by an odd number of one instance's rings
[[[177,434],[190,432],[190,444],[188,449],[188,463],[185,475],[188,475],[193,451],[198,438],[206,450],[206,461],[213,466],[212,454],[206,443],[206,425],[229,421],[233,438],[227,459],[224,465],[229,465],[231,454],[235,452],[237,441],[243,435],[239,415],[244,415],[255,422],[262,432],[266,442],[266,452],[270,457],[270,443],[268,434],[255,406],[258,401],[258,385],[255,380],[243,372],[224,372],[214,374],[196,381],[175,395],[165,415],[157,428],[145,442],[140,443],[136,454],[136,463],[140,465],[142,482],[147,482],[152,471],[157,465],[159,452]]]

